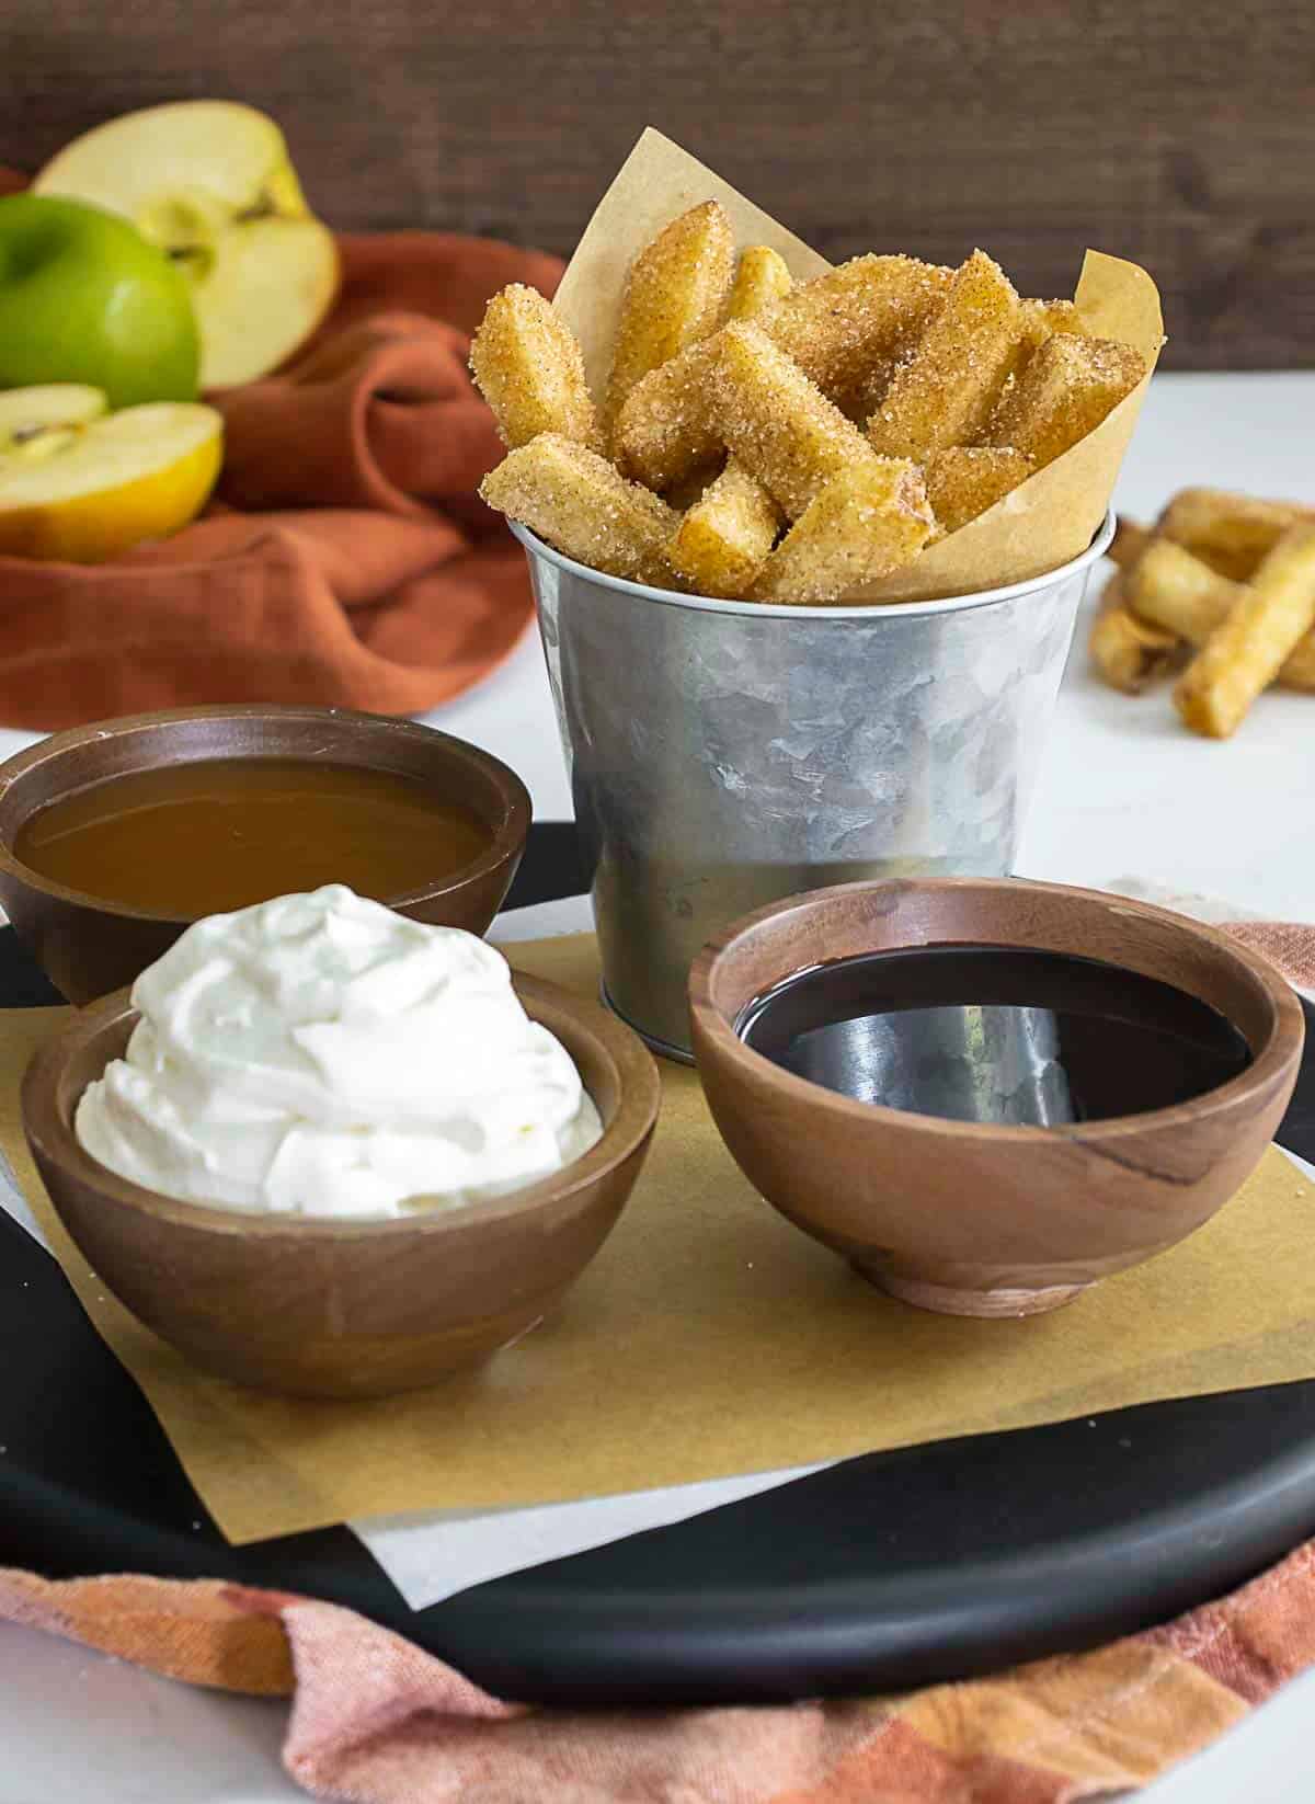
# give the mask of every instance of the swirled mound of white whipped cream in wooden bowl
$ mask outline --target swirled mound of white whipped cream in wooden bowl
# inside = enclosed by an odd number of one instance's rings
[[[132,1001],[74,1129],[184,1201],[402,1216],[518,1191],[602,1135],[501,953],[343,884],[197,922]]]

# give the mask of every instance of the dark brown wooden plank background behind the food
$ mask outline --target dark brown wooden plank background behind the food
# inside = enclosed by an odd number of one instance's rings
[[[651,123],[839,260],[1086,244],[1165,296],[1165,366],[1315,364],[1311,0],[0,0],[0,161],[233,96],[341,227],[568,251]]]

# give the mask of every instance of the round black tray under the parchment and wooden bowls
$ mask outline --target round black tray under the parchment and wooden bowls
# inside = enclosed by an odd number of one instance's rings
[[[583,882],[574,830],[538,826],[509,906]],[[58,999],[2,931],[0,1007]],[[1315,1050],[1279,1140],[1315,1158]],[[848,1459],[411,1611],[345,1528],[229,1546],[2,1210],[0,1256],[0,1564],[303,1591],[510,1698],[749,1703],[961,1678],[1163,1620],[1315,1533],[1315,1382],[1284,1384]]]

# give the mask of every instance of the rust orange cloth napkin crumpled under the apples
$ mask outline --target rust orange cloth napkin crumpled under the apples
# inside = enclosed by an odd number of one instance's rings
[[[0,171],[0,193],[22,186]],[[532,604],[476,498],[501,456],[465,368],[485,299],[556,289],[536,251],[339,238],[343,289],[280,373],[209,397],[207,518],[97,566],[0,557],[0,722],[51,731],[195,702],[411,714],[478,682]]]

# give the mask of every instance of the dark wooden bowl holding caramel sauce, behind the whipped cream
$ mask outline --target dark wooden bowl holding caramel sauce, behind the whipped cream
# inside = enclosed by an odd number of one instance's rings
[[[438,882],[386,897],[438,927],[485,933],[516,875],[530,826],[525,785],[489,752],[433,727],[337,707],[182,707],[56,732],[0,763],[0,904],[38,965],[72,1003],[117,990],[197,915],[124,907],[51,882],[14,857],[23,821],[74,790],[207,758],[310,758],[418,779],[438,803],[473,810],[487,851]],[[206,911],[202,911],[206,913]]]

